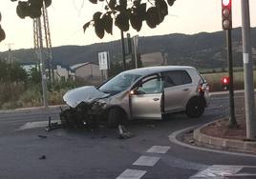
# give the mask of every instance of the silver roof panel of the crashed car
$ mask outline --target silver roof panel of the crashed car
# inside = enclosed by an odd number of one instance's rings
[[[134,70],[126,70],[127,73],[139,74],[139,75],[149,75],[157,72],[163,72],[167,70],[195,70],[193,67],[189,66],[157,66],[157,67],[147,67],[147,68],[139,68]]]

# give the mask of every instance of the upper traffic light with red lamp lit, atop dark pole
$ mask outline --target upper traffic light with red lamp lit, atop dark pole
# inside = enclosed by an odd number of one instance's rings
[[[232,11],[231,0],[222,0],[223,29],[232,29]]]

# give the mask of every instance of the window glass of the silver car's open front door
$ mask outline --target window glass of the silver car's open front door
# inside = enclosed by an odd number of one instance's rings
[[[162,83],[162,79],[157,75],[147,77],[142,79],[142,83],[140,83],[137,90],[143,94],[160,93],[162,91]]]

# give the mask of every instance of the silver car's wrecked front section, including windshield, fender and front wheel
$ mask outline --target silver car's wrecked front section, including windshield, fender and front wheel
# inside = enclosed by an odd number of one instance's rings
[[[123,71],[100,87],[69,90],[63,99],[70,109],[60,113],[64,126],[81,126],[107,120],[109,127],[129,119],[129,90],[141,75]],[[99,119],[99,120],[97,120]]]

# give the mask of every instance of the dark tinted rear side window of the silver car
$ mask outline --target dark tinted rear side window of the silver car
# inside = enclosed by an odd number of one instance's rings
[[[192,83],[192,79],[185,70],[171,70],[162,73],[164,88]]]

